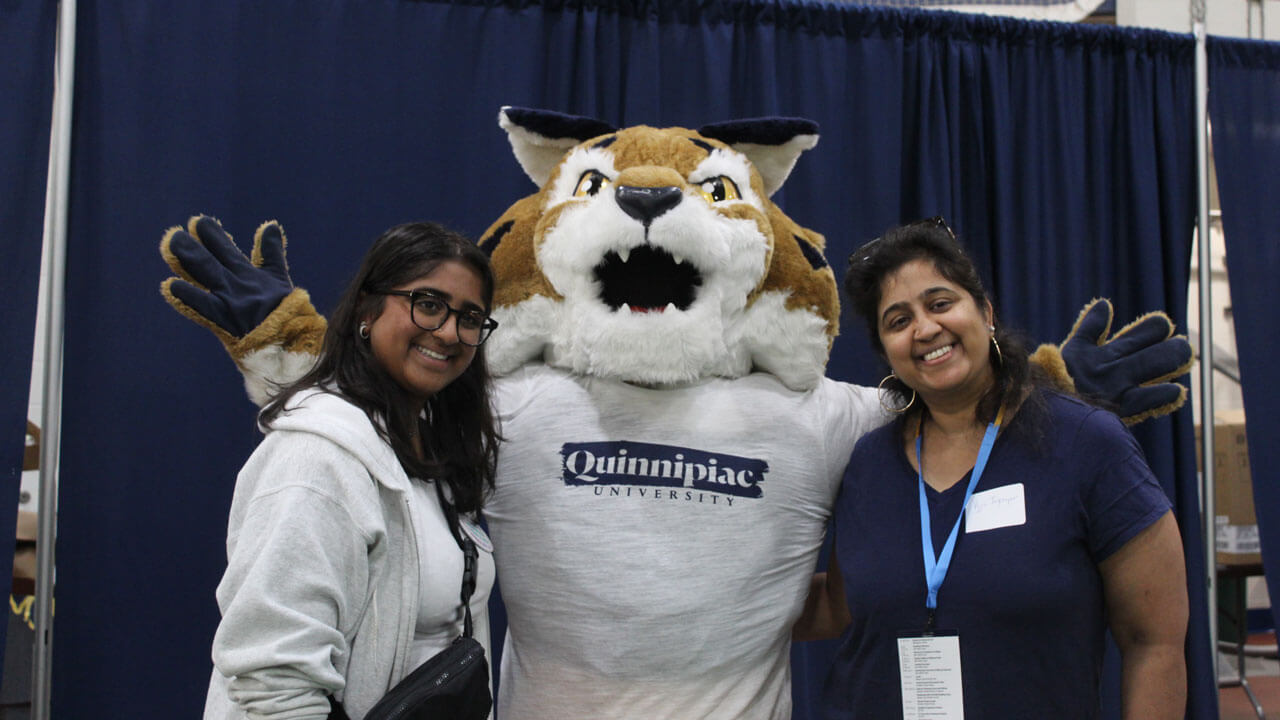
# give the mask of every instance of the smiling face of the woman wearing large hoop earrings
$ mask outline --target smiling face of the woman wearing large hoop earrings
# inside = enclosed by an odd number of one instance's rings
[[[936,406],[977,402],[991,387],[991,304],[911,260],[881,284],[877,333],[890,368]]]

